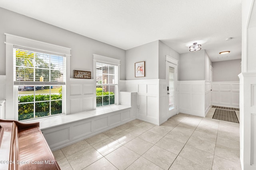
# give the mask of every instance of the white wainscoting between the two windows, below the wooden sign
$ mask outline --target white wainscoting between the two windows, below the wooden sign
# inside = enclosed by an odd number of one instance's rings
[[[96,86],[93,79],[70,78],[69,89],[70,113],[96,109]]]

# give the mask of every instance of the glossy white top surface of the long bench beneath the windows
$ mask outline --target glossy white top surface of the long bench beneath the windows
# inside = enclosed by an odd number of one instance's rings
[[[42,130],[42,129],[47,129],[49,127],[64,125],[67,123],[72,123],[72,122],[80,121],[83,119],[89,119],[99,115],[104,115],[107,113],[112,113],[114,111],[119,111],[119,110],[124,110],[129,108],[131,107],[124,106],[124,105],[114,105],[109,107],[98,108],[91,111],[81,111],[78,113],[72,113],[68,115],[56,115],[52,117],[45,117],[42,119],[27,120],[27,121],[22,121],[22,123],[40,122],[40,129]]]

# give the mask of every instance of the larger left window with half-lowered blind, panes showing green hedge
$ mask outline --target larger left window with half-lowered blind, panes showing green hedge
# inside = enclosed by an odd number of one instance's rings
[[[18,120],[62,113],[66,57],[14,47],[14,85]]]

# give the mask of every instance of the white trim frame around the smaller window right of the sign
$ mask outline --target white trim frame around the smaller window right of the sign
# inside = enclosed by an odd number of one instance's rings
[[[94,109],[96,109],[96,63],[98,62],[104,62],[104,63],[109,63],[109,64],[114,64],[114,65],[117,65],[118,66],[118,85],[117,85],[117,88],[116,88],[116,92],[115,92],[115,104],[116,105],[119,105],[120,104],[120,88],[118,88],[119,86],[119,81],[120,81],[120,60],[118,59],[113,59],[113,58],[110,58],[110,57],[105,57],[105,56],[102,56],[102,55],[97,55],[97,54],[93,54],[93,79],[94,79],[94,92],[95,92],[95,95],[94,95]],[[109,105],[108,105],[109,106]],[[103,107],[108,107],[108,106],[102,106],[102,107],[99,107],[99,108],[103,108]],[[112,105],[111,105],[112,106]]]

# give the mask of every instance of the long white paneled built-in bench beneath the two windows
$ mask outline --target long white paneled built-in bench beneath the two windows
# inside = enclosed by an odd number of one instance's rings
[[[51,150],[57,150],[136,119],[135,107],[115,105],[40,120],[40,129]]]

